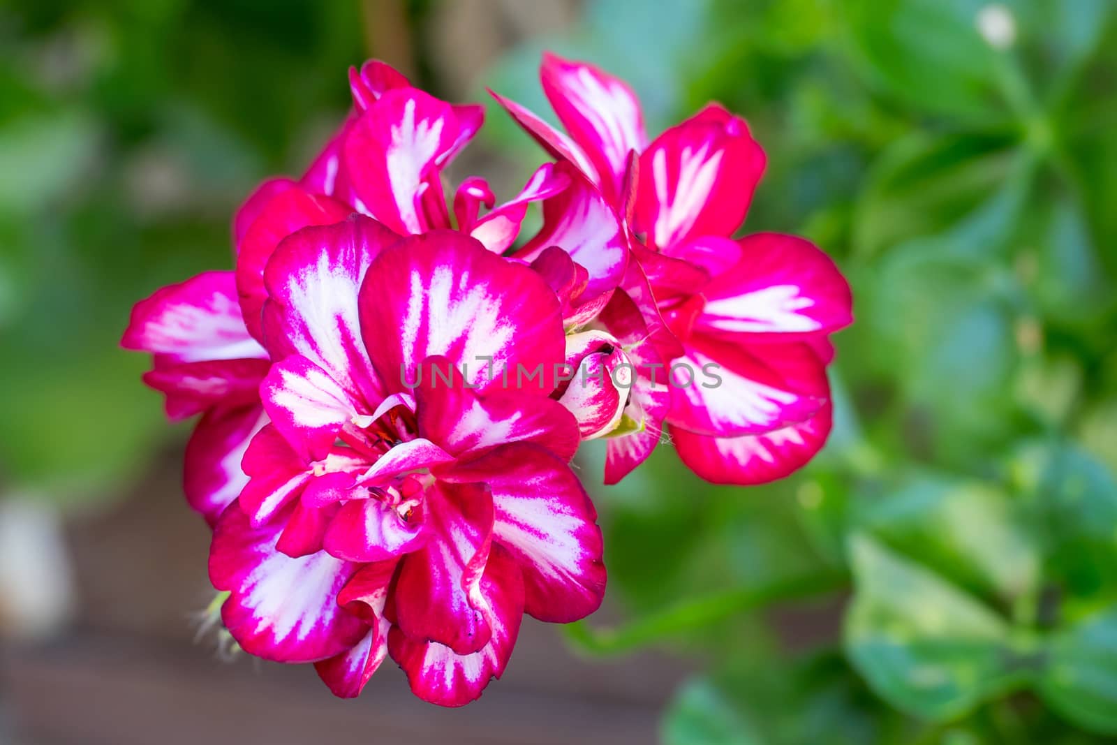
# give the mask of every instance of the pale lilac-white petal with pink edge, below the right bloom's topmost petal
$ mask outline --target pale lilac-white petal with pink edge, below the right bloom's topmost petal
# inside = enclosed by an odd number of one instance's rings
[[[558,246],[589,271],[586,297],[617,287],[628,266],[628,240],[617,212],[601,192],[567,163],[557,163],[570,185],[543,201],[543,228],[516,258],[532,261]]]

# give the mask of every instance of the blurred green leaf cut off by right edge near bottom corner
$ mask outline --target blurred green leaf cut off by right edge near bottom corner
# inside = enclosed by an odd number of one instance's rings
[[[1117,608],[1051,639],[1050,662],[1039,690],[1078,726],[1117,735]]]

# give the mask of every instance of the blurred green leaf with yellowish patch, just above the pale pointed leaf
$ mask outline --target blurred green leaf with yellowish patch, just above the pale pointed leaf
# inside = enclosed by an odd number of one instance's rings
[[[1038,591],[1040,554],[1005,494],[975,481],[916,478],[870,505],[862,527],[974,592]]]

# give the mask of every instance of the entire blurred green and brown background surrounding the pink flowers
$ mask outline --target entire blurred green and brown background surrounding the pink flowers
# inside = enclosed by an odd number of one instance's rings
[[[1117,742],[1114,4],[0,2],[0,743]],[[548,115],[544,48],[630,80],[653,134],[748,120],[747,230],[855,288],[830,443],[763,488],[668,448],[594,486],[607,606],[525,622],[464,710],[391,663],[342,703],[225,660],[131,305],[230,266],[235,206],[302,171],[349,65]],[[452,175],[508,194],[541,161],[490,105]]]

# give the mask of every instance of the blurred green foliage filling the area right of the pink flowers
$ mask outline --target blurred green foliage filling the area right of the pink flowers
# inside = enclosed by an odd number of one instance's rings
[[[569,636],[705,653],[669,745],[1117,735],[1113,6],[602,0],[497,70],[545,113],[537,51],[592,59],[652,133],[720,101],[768,153],[747,230],[853,284],[804,472],[715,488],[665,450],[598,490],[631,620]]]

